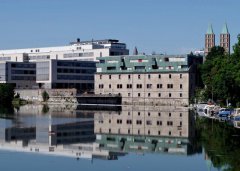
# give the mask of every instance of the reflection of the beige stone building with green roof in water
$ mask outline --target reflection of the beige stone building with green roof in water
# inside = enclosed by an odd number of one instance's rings
[[[187,108],[123,107],[94,116],[96,142],[112,152],[193,153],[194,117]]]

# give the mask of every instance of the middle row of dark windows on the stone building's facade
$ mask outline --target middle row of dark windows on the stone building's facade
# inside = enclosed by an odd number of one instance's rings
[[[102,86],[101,86],[101,89],[103,89],[104,88],[104,85],[103,84],[101,84]],[[108,85],[108,87],[109,88],[112,88],[112,85],[111,84],[109,84]],[[132,84],[127,84],[127,89],[131,89],[132,88]],[[152,84],[147,84],[147,89],[152,89],[153,88],[153,85]],[[122,89],[123,88],[123,85],[122,84],[117,84],[117,89]],[[136,88],[137,89],[141,89],[141,88],[143,88],[143,85],[142,84],[136,84]],[[161,89],[161,88],[163,88],[163,85],[162,84],[157,84],[157,88],[158,89]],[[173,89],[173,84],[167,84],[167,88],[168,89]],[[183,89],[183,85],[182,84],[180,84],[179,85],[179,88],[180,89]]]

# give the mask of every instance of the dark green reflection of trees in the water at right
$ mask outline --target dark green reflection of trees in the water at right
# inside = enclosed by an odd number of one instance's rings
[[[197,142],[205,150],[205,159],[221,170],[240,170],[240,129],[227,122],[197,118]]]

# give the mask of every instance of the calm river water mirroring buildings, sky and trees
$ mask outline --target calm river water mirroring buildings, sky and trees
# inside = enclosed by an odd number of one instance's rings
[[[240,131],[173,106],[1,108],[0,170],[240,170]]]

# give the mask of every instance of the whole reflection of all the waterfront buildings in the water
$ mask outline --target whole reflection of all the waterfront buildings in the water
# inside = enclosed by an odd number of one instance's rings
[[[117,159],[129,152],[193,153],[195,120],[187,108],[20,109],[1,119],[0,149],[75,158]]]

